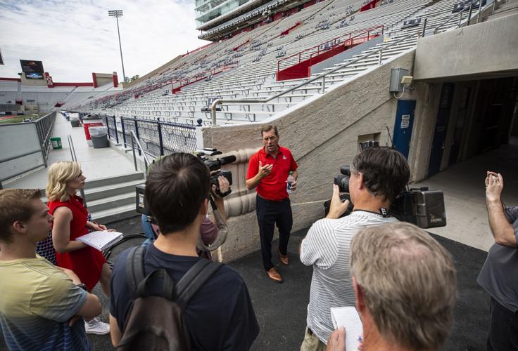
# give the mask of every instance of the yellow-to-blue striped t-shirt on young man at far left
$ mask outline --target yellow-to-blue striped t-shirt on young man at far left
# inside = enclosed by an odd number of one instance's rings
[[[9,350],[89,350],[80,318],[87,300],[63,271],[37,258],[0,261],[0,329]]]

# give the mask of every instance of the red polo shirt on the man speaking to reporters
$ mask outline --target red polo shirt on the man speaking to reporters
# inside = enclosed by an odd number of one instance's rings
[[[297,169],[297,163],[291,151],[286,147],[279,146],[277,157],[273,158],[270,154],[265,152],[264,147],[255,152],[248,161],[248,172],[246,172],[246,179],[255,177],[259,173],[259,161],[263,166],[273,164],[272,171],[268,176],[261,179],[256,190],[260,197],[272,201],[282,201],[288,199],[288,192],[286,192],[286,179],[288,179],[289,171]]]

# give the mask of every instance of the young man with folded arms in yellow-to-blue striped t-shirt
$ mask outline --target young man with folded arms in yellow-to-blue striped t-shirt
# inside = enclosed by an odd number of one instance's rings
[[[0,330],[9,350],[90,350],[80,317],[101,314],[101,303],[74,272],[36,254],[53,220],[40,197],[0,190]]]

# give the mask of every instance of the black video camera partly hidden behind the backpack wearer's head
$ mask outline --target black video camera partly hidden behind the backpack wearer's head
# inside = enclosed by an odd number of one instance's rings
[[[210,185],[216,185],[216,193],[220,197],[226,197],[228,194],[232,192],[231,189],[229,189],[227,192],[222,193],[220,191],[220,183],[217,180],[217,177],[224,176],[229,180],[229,185],[232,185],[232,172],[226,171],[225,169],[221,169],[221,166],[224,166],[225,164],[231,164],[232,162],[236,161],[236,157],[231,156],[225,156],[221,157],[215,160],[209,159],[209,157],[216,156],[218,154],[222,154],[222,152],[217,151],[217,149],[203,149],[203,150],[196,150],[194,154],[203,161],[203,164],[205,164],[209,171],[210,171]],[[153,161],[154,162],[154,161]],[[147,209],[146,206],[146,197],[144,196],[146,192],[146,185],[145,184],[139,184],[137,185],[137,198],[136,198],[136,208],[137,212],[141,213],[143,215],[152,217],[152,214]],[[215,208],[215,204],[213,199],[210,199],[210,204],[213,206],[213,209]]]

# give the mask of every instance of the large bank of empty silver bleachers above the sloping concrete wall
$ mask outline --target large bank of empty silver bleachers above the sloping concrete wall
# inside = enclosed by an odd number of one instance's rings
[[[458,1],[394,0],[386,1],[384,5],[369,11],[357,12],[362,5],[360,1],[323,1],[288,18],[272,22],[251,32],[238,34],[232,39],[215,43],[204,50],[187,55],[175,62],[172,67],[149,79],[146,84],[155,84],[164,79],[174,81],[175,77],[182,75],[183,78],[189,75],[196,77],[196,74],[199,74],[198,77],[203,77],[201,74],[203,69],[215,65],[215,62],[236,61],[237,67],[233,69],[184,86],[175,94],[165,95],[165,89],[170,86],[164,86],[156,91],[139,95],[138,98],[132,96],[104,110],[83,105],[82,112],[104,113],[118,117],[160,118],[187,124],[195,124],[196,120],[201,118],[203,124],[210,125],[210,112],[207,107],[209,100],[213,98],[265,98],[304,81],[304,79],[274,81],[277,60],[279,60],[276,56],[279,51],[284,51],[285,55],[289,56],[349,32],[382,25],[386,36],[384,42],[337,65],[346,65],[350,60],[377,51],[379,48],[386,48],[381,57],[381,63],[384,63],[414,47],[418,37],[415,35],[397,45],[392,45],[394,42],[408,34],[422,32],[424,18],[427,19],[427,28],[440,24],[452,14],[456,2]],[[467,13],[463,16],[461,21],[465,20]],[[403,27],[404,20],[419,18],[423,20],[414,27]],[[301,22],[302,25],[296,26],[289,34],[280,35],[297,22]],[[444,25],[440,32],[456,27],[457,22]],[[353,66],[343,67],[329,74],[326,77],[325,86],[329,88],[333,84],[352,79],[356,74],[377,65],[379,65],[378,55],[367,57],[355,62]],[[328,67],[327,70],[334,67]],[[319,93],[321,88],[322,81],[318,80],[271,100],[267,104],[225,103],[217,111],[218,124],[261,121]]]

